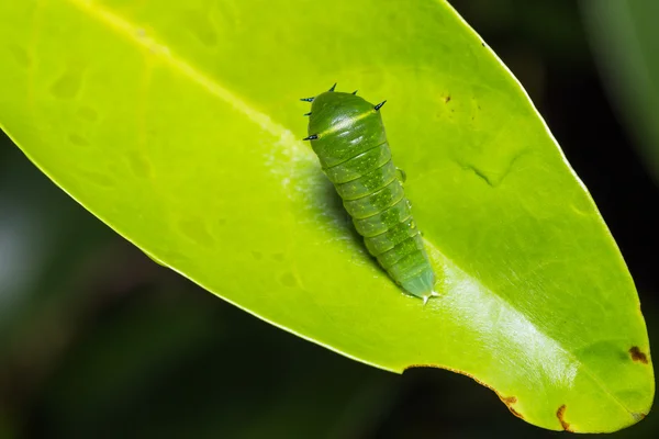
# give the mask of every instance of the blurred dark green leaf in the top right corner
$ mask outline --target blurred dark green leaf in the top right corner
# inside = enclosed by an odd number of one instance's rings
[[[608,92],[659,182],[659,2],[581,3]]]

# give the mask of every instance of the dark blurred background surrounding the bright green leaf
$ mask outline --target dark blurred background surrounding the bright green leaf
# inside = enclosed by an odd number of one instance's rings
[[[659,190],[607,99],[579,4],[451,3],[528,90],[592,193],[656,345]],[[650,413],[614,437],[658,434]],[[465,376],[376,370],[217,300],[77,205],[0,133],[0,438],[558,435]]]

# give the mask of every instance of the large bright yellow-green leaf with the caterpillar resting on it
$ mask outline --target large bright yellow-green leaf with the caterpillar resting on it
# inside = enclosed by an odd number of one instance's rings
[[[1,126],[154,259],[356,360],[471,375],[544,428],[648,413],[619,251],[521,86],[446,2],[23,1],[0,15]],[[300,140],[298,99],[335,81],[388,100],[440,283],[425,307],[367,255]]]

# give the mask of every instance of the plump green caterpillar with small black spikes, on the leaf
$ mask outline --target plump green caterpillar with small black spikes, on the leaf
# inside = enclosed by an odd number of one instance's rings
[[[368,251],[395,283],[425,304],[437,295],[435,273],[391,160],[379,111],[387,101],[373,105],[357,91],[335,88],[302,99],[312,102],[304,140],[311,140]]]

